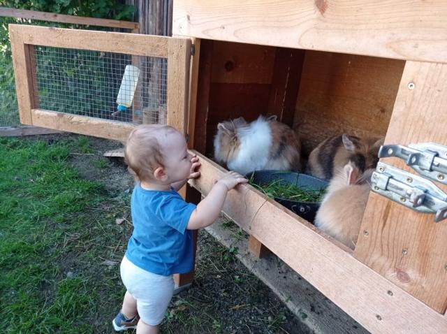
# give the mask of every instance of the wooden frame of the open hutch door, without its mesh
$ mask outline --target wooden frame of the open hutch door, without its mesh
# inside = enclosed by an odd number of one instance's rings
[[[18,24],[10,24],[9,31],[20,122],[23,124],[117,140],[126,140],[129,132],[135,126],[124,122],[38,109],[34,45],[43,45],[168,59],[168,124],[185,133],[189,103],[189,59],[191,55],[191,40],[189,38]]]

